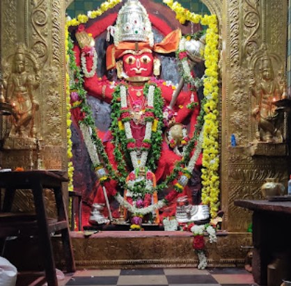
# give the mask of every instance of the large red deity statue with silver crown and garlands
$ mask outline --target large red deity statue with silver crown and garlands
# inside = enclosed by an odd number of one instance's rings
[[[173,84],[157,79],[161,63],[156,55],[175,52],[179,46],[181,32],[172,31],[164,40],[155,44],[150,19],[138,0],[128,0],[118,13],[116,25],[109,26],[107,31],[113,37],[114,43],[107,47],[106,65],[108,71],[117,70],[118,79],[114,82],[106,78],[98,79],[95,72],[97,55],[91,34],[95,33],[95,37],[96,32],[91,27],[85,29],[84,26],[79,26],[76,31],[79,47],[76,45],[74,51],[77,61],[78,56],[81,58],[79,65],[84,72],[84,88],[88,95],[111,104],[111,132],[99,132],[99,135],[113,169],[120,173],[124,169],[127,173],[122,186],[124,193],[118,197],[118,202],[129,212],[139,214],[148,214],[146,210],[156,205],[156,208],[151,210],[153,218],[147,220],[159,222],[159,216],[162,218],[175,215],[175,203],[171,207],[159,205],[158,194],[153,190],[157,182],[170,175],[175,164],[182,159],[182,151],[174,152],[167,140],[164,140],[162,132],[171,127],[169,134],[179,137],[178,145],[182,144],[183,140],[183,143],[187,143],[188,136],[194,134],[200,110],[195,88],[182,90],[177,94]],[[177,98],[174,103],[173,97]],[[183,122],[187,118],[189,127],[186,130],[186,127],[183,128]],[[123,166],[123,159],[126,166]],[[201,166],[201,155],[196,161],[196,166]],[[97,177],[107,177],[107,166],[95,166],[95,170]],[[175,182],[184,187],[180,196],[187,196],[191,204],[191,194],[187,187],[188,177],[184,178],[182,182],[177,177]],[[102,185],[95,197],[91,223],[109,221],[104,218],[102,210],[107,197],[116,195],[116,189],[120,188],[113,178],[104,180]],[[178,193],[174,193],[170,191],[166,200],[176,198]],[[158,207],[161,208],[162,214],[157,211]],[[207,206],[198,205],[197,208],[204,209],[204,212],[200,213],[203,213],[205,219]],[[198,216],[196,219],[199,219]]]

